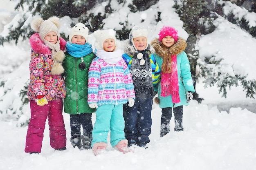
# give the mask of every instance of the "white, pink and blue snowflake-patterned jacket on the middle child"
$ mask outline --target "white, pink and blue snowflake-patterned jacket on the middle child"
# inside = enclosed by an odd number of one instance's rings
[[[126,62],[121,59],[109,64],[96,57],[88,75],[88,104],[126,104],[128,97],[135,99],[132,76]]]

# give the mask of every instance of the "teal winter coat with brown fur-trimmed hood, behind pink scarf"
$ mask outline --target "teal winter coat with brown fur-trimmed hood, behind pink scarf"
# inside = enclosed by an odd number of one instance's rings
[[[158,39],[155,39],[151,42],[153,48],[155,49],[155,60],[157,61],[160,71],[162,70],[162,63],[163,58],[161,55],[163,54],[163,49],[159,44]],[[189,59],[184,52],[186,48],[186,41],[182,38],[178,38],[177,42],[169,49],[169,52],[172,54],[177,55],[177,73],[178,73],[178,80],[179,80],[179,95],[180,95],[180,103],[172,102],[172,97],[162,97],[161,94],[161,75],[159,84],[155,87],[155,90],[158,91],[158,98],[159,98],[159,107],[166,108],[166,107],[177,107],[182,105],[188,105],[189,103],[186,102],[186,92],[191,91],[195,92],[195,88],[193,86],[193,81],[191,77]]]

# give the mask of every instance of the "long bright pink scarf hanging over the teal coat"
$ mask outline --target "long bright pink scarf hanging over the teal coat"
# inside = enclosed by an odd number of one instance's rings
[[[179,80],[177,72],[177,55],[171,55],[171,73],[161,73],[161,96],[172,95],[173,103],[180,102]]]

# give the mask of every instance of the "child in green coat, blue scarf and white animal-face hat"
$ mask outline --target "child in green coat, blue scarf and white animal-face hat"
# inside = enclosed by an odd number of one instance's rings
[[[79,150],[91,149],[92,113],[96,109],[88,106],[88,70],[92,60],[92,45],[88,43],[89,30],[85,24],[72,22],[70,24],[69,41],[66,44],[65,83],[67,96],[64,99],[64,112],[70,114],[70,129],[72,146]],[[83,135],[81,135],[81,126]]]

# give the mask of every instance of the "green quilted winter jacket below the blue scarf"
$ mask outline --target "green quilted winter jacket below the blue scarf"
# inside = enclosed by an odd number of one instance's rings
[[[90,53],[83,57],[85,69],[79,68],[81,57],[73,57],[65,52],[63,67],[65,69],[65,83],[67,95],[64,99],[64,112],[72,115],[81,113],[93,113],[96,109],[88,106],[88,70],[92,60],[96,57]]]

